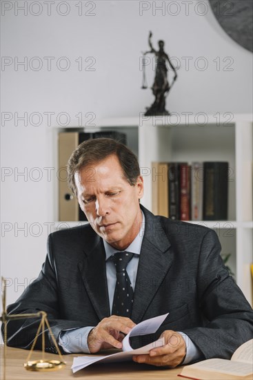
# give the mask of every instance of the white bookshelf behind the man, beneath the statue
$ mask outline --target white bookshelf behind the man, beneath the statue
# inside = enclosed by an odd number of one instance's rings
[[[229,162],[228,220],[195,223],[216,230],[222,253],[231,254],[229,265],[236,282],[252,303],[252,115],[225,116],[219,123],[217,115],[205,115],[196,123],[196,115],[191,115],[185,123],[185,117],[179,120],[179,117],[140,115],[99,120],[96,127],[85,127],[83,131],[116,129],[127,134],[128,146],[138,155],[144,178],[145,191],[141,203],[150,210],[153,161]],[[72,227],[78,223],[68,222],[68,225]]]

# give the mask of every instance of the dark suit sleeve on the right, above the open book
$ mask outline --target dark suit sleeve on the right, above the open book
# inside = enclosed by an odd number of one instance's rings
[[[208,231],[199,252],[196,278],[203,327],[183,330],[205,359],[230,359],[236,348],[252,339],[252,308],[228,274],[216,233]]]

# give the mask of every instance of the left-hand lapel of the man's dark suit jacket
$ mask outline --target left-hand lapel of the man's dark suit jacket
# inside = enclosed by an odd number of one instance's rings
[[[110,316],[108,286],[105,271],[105,250],[103,240],[95,237],[93,247],[83,262],[79,263],[79,270],[88,292],[90,301],[97,312],[99,319]]]

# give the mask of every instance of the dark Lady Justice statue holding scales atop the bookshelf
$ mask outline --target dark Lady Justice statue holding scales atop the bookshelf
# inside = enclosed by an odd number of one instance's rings
[[[156,74],[154,77],[154,84],[152,86],[152,93],[154,94],[154,103],[149,107],[146,108],[147,111],[145,112],[145,116],[151,116],[151,115],[170,115],[168,111],[165,109],[165,97],[168,95],[170,89],[172,88],[177,74],[174,66],[172,65],[172,62],[170,61],[169,56],[165,53],[163,50],[164,41],[160,40],[158,41],[159,50],[155,50],[152,46],[151,42],[152,32],[150,32],[149,38],[148,38],[148,44],[150,46],[150,50],[143,53],[143,55],[147,55],[149,53],[153,53],[156,58]],[[166,64],[170,65],[172,70],[174,71],[174,79],[172,84],[169,84],[167,72],[168,68]],[[145,85],[145,66],[143,64],[143,86],[142,88],[147,88]]]

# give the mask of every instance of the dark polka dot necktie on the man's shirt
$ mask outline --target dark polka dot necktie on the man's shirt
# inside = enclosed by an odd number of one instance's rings
[[[116,268],[116,286],[112,303],[112,314],[131,317],[132,303],[134,300],[134,290],[126,271],[128,263],[134,254],[129,252],[118,252],[111,256],[111,260]]]

